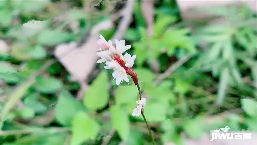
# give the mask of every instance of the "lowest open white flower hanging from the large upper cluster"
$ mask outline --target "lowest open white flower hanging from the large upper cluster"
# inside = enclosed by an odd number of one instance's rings
[[[112,73],[113,77],[116,78],[116,84],[119,85],[123,80],[129,82],[127,73],[123,67],[119,64],[116,65],[116,69]]]

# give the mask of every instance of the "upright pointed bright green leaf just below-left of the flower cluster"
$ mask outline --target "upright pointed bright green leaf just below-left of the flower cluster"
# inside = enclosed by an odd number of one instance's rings
[[[86,91],[83,102],[91,110],[103,108],[109,99],[108,76],[102,71]]]

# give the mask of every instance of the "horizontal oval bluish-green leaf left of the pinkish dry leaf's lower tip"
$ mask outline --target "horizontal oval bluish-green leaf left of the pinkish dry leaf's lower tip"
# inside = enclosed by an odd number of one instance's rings
[[[38,78],[35,83],[35,88],[40,92],[52,94],[63,86],[62,82],[54,77]]]

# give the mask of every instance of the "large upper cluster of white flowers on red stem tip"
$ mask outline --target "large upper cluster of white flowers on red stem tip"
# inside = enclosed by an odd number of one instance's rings
[[[136,72],[132,70],[134,65],[134,61],[136,59],[136,55],[131,56],[126,53],[124,56],[122,55],[125,51],[131,48],[131,45],[125,45],[125,40],[117,40],[115,39],[115,47],[113,46],[113,42],[109,40],[108,42],[105,38],[100,35],[100,39],[97,41],[99,45],[99,51],[97,51],[97,55],[101,57],[97,61],[97,63],[105,62],[105,69],[113,69],[112,73],[113,78],[116,78],[116,84],[119,85],[123,80],[129,82],[127,74],[131,76],[135,85],[138,84],[138,79]]]

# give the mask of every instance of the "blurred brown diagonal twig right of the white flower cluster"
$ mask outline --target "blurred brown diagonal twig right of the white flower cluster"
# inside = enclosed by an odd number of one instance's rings
[[[172,72],[174,72],[178,67],[186,63],[191,58],[191,55],[186,55],[182,59],[178,60],[176,63],[171,65],[164,73],[160,74],[158,78],[154,81],[154,84],[160,83],[164,78],[168,77]]]

